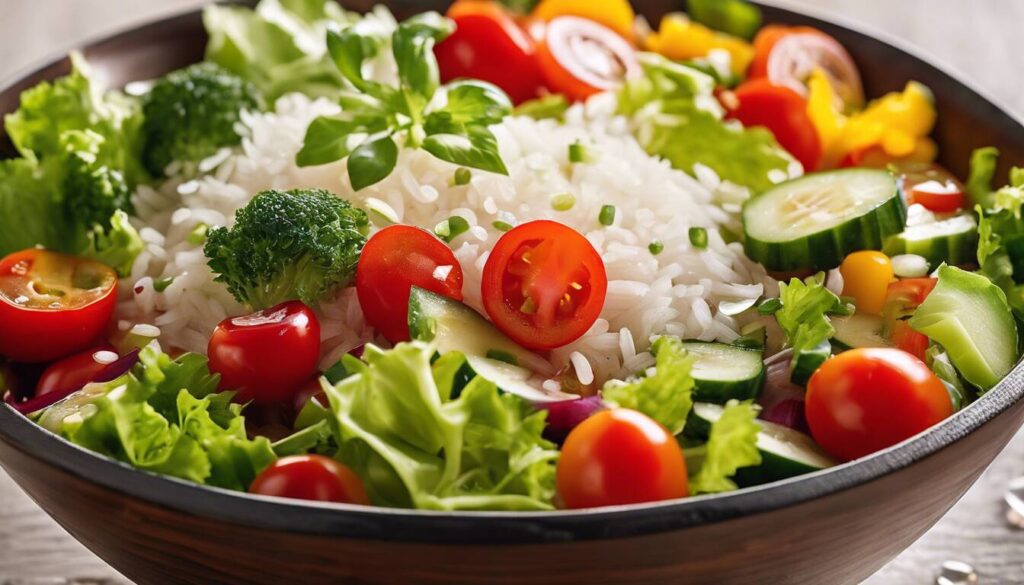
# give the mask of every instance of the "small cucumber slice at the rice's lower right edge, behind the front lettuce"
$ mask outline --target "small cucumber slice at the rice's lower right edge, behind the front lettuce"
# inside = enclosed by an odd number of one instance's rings
[[[725,404],[761,393],[765,372],[760,350],[703,341],[686,341],[683,347],[694,357],[693,400]]]

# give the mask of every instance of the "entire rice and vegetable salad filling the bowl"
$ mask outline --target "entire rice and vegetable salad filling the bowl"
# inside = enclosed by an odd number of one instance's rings
[[[23,93],[0,392],[142,471],[434,510],[654,502],[909,438],[1021,356],[1024,170],[743,0],[206,9]]]

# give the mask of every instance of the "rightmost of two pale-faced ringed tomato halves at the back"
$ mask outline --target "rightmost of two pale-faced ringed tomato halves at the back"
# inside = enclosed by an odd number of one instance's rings
[[[754,39],[754,60],[749,78],[767,78],[775,85],[807,97],[807,78],[816,69],[824,72],[836,91],[840,112],[864,105],[864,87],[850,53],[833,37],[811,27],[764,27]]]

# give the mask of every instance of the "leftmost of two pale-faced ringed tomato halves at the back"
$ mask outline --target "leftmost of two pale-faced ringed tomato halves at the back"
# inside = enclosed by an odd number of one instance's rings
[[[640,70],[636,51],[610,29],[579,16],[558,16],[544,28],[537,60],[547,88],[572,101],[616,89]]]

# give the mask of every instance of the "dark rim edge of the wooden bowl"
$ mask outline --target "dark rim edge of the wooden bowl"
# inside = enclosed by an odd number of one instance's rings
[[[408,6],[407,6],[408,7]],[[1024,125],[1009,110],[990,97],[971,90],[950,74],[916,56],[916,51],[886,35],[858,32],[858,27],[837,25],[782,8],[764,6],[766,20],[799,22],[825,30],[846,30],[869,37],[906,53],[915,67],[969,91],[980,105],[998,111],[1004,122],[1024,135]],[[99,43],[116,42],[129,34],[156,31],[175,20],[195,19],[197,10],[154,20],[122,33],[103,37]],[[67,51],[0,84],[0,94],[24,85],[26,80],[65,60]],[[941,114],[940,114],[941,115]],[[338,538],[378,539],[435,544],[527,544],[632,536],[675,531],[767,512],[849,490],[930,457],[970,434],[1024,394],[1024,364],[964,411],[927,431],[866,458],[831,469],[728,494],[699,496],[652,504],[636,504],[590,510],[552,512],[437,512],[342,504],[318,504],[240,494],[208,488],[173,477],[139,471],[119,461],[99,457],[43,429],[9,406],[0,407],[0,437],[15,448],[65,472],[101,486],[127,498],[151,502],[200,517],[240,526]],[[923,486],[923,489],[928,489]],[[784,530],[780,527],[780,530]]]

